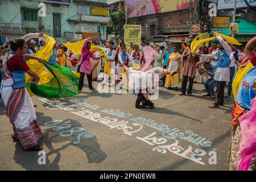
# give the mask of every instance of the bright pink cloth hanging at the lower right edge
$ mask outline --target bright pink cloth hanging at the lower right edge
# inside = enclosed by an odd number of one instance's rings
[[[251,100],[251,110],[238,118],[241,128],[240,152],[237,158],[237,170],[246,171],[256,153],[256,97]]]

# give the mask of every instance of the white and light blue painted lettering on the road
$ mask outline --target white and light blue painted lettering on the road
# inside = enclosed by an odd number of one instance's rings
[[[177,128],[170,128],[166,124],[159,124],[156,123],[152,119],[146,119],[143,117],[137,117],[133,118],[133,115],[130,113],[125,113],[120,110],[114,110],[114,109],[102,109],[100,112],[110,115],[115,115],[119,118],[125,119],[122,121],[118,121],[117,118],[110,118],[109,116],[102,117],[101,113],[95,112],[95,110],[100,109],[98,105],[89,104],[85,98],[76,98],[72,100],[68,100],[68,102],[61,102],[60,100],[47,100],[44,98],[39,98],[39,100],[45,102],[46,104],[50,105],[52,108],[56,109],[63,109],[63,110],[74,110],[76,109],[76,105],[81,105],[84,107],[87,107],[91,110],[81,110],[81,111],[72,111],[71,113],[79,115],[80,117],[89,119],[90,121],[102,123],[110,129],[118,129],[121,130],[124,134],[132,136],[135,133],[138,133],[143,129],[143,126],[151,127],[152,129],[155,129],[157,131],[160,131],[163,134],[163,137],[155,137],[156,132],[151,133],[147,135],[146,137],[136,137],[137,139],[141,140],[144,143],[147,143],[151,146],[155,146],[152,150],[160,152],[162,154],[166,154],[167,152],[172,152],[173,154],[179,155],[183,158],[192,160],[194,162],[204,164],[204,162],[201,162],[201,158],[196,158],[196,156],[204,156],[206,152],[204,150],[201,150],[199,148],[196,148],[193,150],[191,146],[188,146],[187,148],[183,148],[179,146],[179,142],[177,138],[180,138],[182,140],[186,140],[188,142],[191,142],[196,145],[201,145],[203,147],[211,147],[212,142],[209,142],[205,140],[203,137],[199,137],[198,134],[193,133],[191,130],[185,130],[184,133],[180,132]],[[46,109],[49,109],[51,107],[46,107]],[[82,108],[83,109],[83,108]],[[133,123],[130,123],[133,122]],[[135,122],[135,123],[134,123]],[[51,124],[51,123],[50,123]],[[48,125],[48,124],[47,124]],[[55,126],[55,125],[52,125]],[[60,131],[58,129],[68,129],[71,126],[68,126],[67,124],[64,124],[63,126],[56,126],[54,129],[55,131]],[[68,128],[67,128],[68,127]],[[64,130],[64,129],[63,129]],[[73,133],[79,133],[83,131],[82,127],[76,127],[72,130],[64,131],[61,130],[60,135],[63,137],[67,137],[72,135]],[[93,136],[91,133],[81,133],[77,137],[77,141],[74,141],[75,143],[79,143],[81,137],[89,138],[90,136]],[[170,144],[169,142],[172,141]]]

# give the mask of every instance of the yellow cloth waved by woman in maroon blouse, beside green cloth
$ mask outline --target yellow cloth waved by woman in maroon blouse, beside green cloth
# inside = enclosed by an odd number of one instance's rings
[[[49,57],[53,53],[52,48],[54,47],[56,40],[46,34],[44,34],[44,38],[46,38],[47,41],[46,45],[40,48],[39,51],[34,54],[34,56],[40,57],[48,61]],[[28,67],[30,67],[32,71],[34,71],[40,77],[40,81],[38,83],[39,85],[48,82],[53,77],[49,71],[44,71],[44,65],[42,63],[39,63],[38,60],[30,59],[27,61],[27,65]],[[26,73],[26,84],[30,83],[32,79],[33,78]],[[27,91],[30,94],[30,96],[34,95],[29,88],[27,88]]]

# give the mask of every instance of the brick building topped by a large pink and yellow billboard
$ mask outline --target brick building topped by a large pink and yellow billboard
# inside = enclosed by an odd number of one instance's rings
[[[134,6],[131,0],[126,1],[126,4],[128,24],[140,24],[142,40],[148,43],[171,42],[175,45],[189,35],[199,34],[203,26],[209,24],[209,17],[205,16],[208,13],[207,1],[167,0],[159,5],[152,3],[142,8],[139,3]],[[148,7],[151,9],[147,10]]]

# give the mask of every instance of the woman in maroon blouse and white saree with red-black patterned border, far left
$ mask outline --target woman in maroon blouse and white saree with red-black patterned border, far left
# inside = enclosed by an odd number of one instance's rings
[[[7,117],[13,125],[14,140],[19,140],[25,150],[42,150],[39,139],[43,137],[35,109],[26,89],[26,73],[35,79],[35,84],[40,80],[35,72],[31,71],[23,59],[43,59],[27,55],[27,46],[23,39],[10,42],[11,52],[3,60],[4,77],[1,82],[1,96],[5,104]]]

